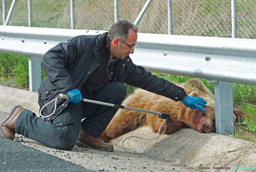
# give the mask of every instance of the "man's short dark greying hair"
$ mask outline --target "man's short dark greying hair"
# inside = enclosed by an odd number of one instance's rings
[[[110,41],[113,41],[115,38],[119,38],[122,41],[126,40],[130,28],[133,28],[134,32],[137,33],[137,26],[127,20],[118,21],[117,23],[113,24],[108,33]]]

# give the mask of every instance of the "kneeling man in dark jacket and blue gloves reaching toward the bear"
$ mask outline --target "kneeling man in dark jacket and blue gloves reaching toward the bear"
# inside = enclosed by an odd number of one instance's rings
[[[46,78],[39,87],[38,104],[45,104],[65,93],[70,100],[58,99],[42,109],[44,119],[28,109],[15,106],[1,125],[4,137],[15,133],[48,147],[70,150],[75,145],[103,151],[114,151],[111,144],[99,137],[118,109],[81,102],[82,97],[112,104],[121,104],[126,96],[123,83],[182,101],[187,107],[207,107],[200,97],[188,96],[183,88],[136,66],[129,54],[134,53],[137,27],[118,21],[101,35],[76,36],[47,51],[42,59]],[[85,118],[82,122],[81,120]]]

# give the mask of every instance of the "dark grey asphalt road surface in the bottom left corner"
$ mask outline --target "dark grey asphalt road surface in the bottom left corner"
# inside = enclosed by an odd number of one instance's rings
[[[82,166],[0,136],[0,171],[85,171]]]

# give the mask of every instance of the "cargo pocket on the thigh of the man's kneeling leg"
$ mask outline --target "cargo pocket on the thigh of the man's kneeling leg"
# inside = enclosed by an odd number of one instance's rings
[[[63,149],[67,147],[66,145],[74,146],[75,141],[71,139],[70,131],[68,129],[68,125],[74,123],[71,118],[59,118],[54,119],[53,124],[55,126],[56,134],[60,138],[60,144],[62,145]],[[72,132],[72,131],[71,131]]]

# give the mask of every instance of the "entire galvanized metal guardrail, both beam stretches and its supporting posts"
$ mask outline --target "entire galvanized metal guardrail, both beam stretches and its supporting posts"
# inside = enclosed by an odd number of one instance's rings
[[[41,83],[40,59],[59,42],[106,31],[0,26],[0,52],[34,56],[30,87]],[[148,71],[205,78],[215,83],[216,132],[233,131],[232,83],[256,85],[256,40],[138,33],[136,65]],[[33,76],[33,71],[37,75]],[[40,71],[40,72],[38,72]],[[33,89],[31,91],[34,91]]]

